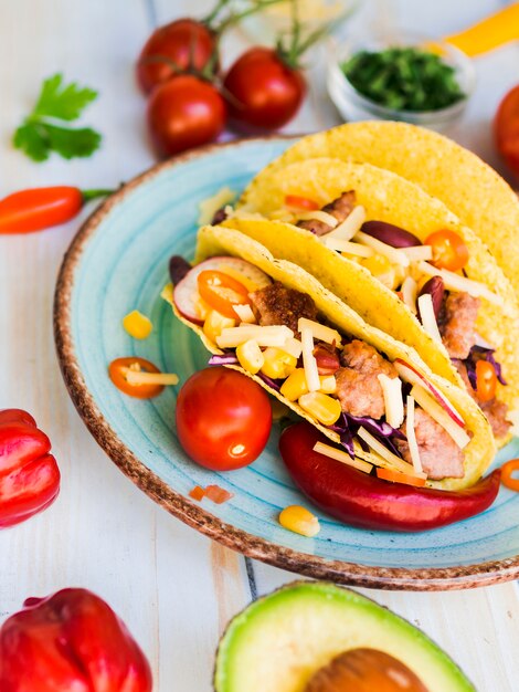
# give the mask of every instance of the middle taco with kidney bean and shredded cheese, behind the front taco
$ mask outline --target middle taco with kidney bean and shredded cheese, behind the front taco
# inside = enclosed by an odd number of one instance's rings
[[[284,221],[247,218],[258,212]],[[314,158],[257,177],[236,213],[226,226],[415,348],[434,373],[467,388],[500,444],[509,439],[519,408],[513,289],[439,200],[369,164]]]

